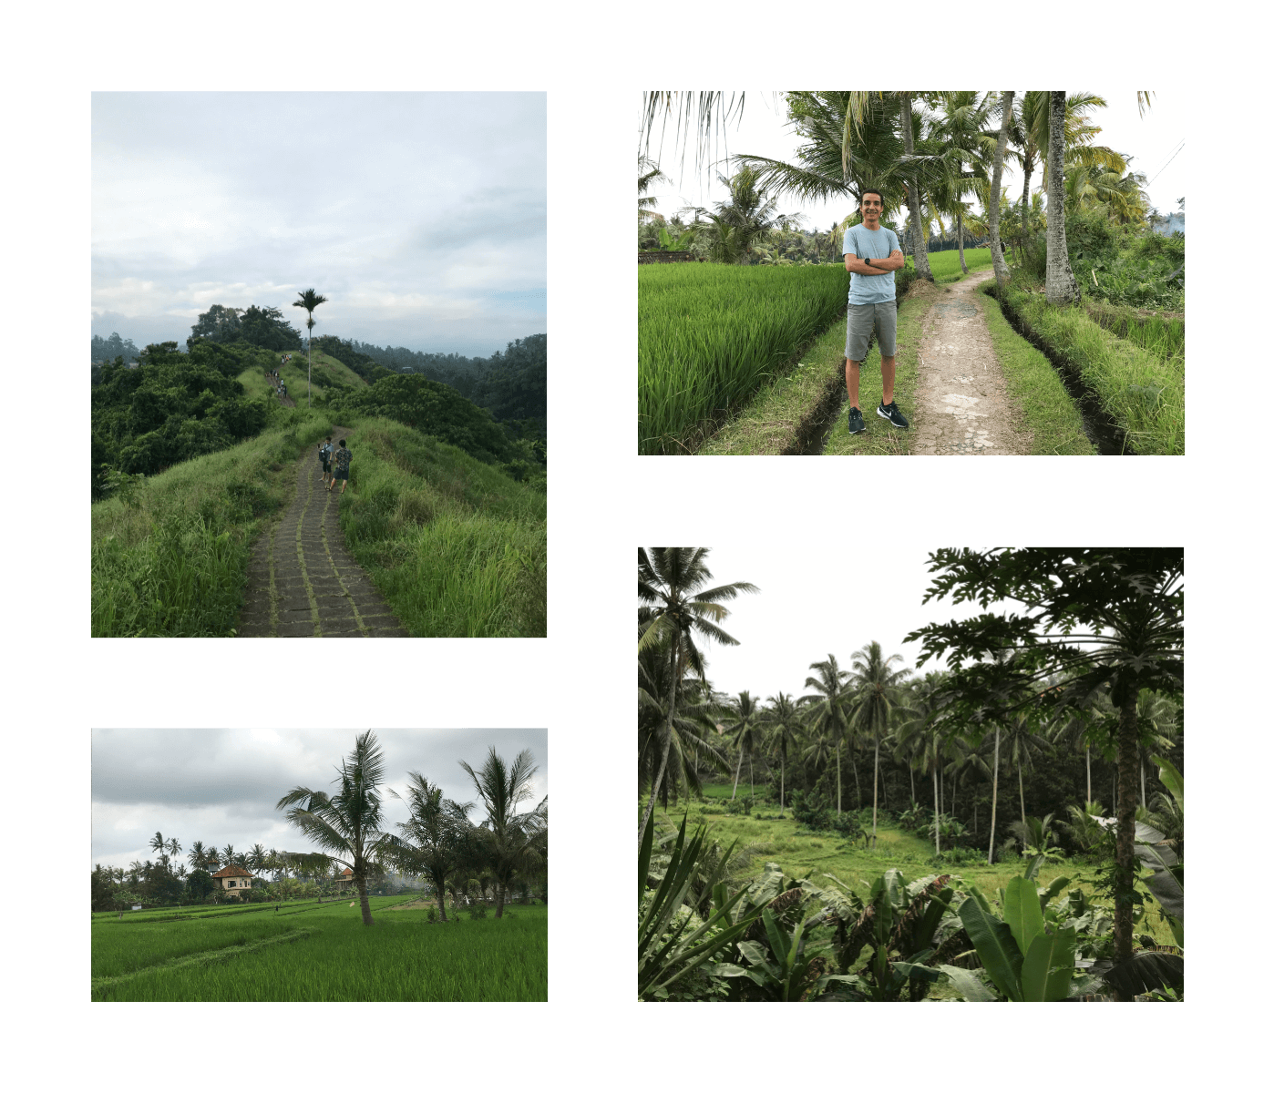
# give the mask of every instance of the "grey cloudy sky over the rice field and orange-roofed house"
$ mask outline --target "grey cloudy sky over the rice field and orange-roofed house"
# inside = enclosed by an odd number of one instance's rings
[[[256,843],[269,850],[329,852],[299,833],[288,819],[292,806],[275,809],[298,786],[334,796],[341,766],[366,729],[93,729],[92,822],[89,869],[127,869],[134,861],[159,861],[150,846],[155,832],[176,837],[177,860],[192,869],[196,841],[234,854]],[[401,837],[406,823],[409,773],[442,786],[443,800],[473,803],[474,825],[487,806],[464,761],[482,777],[490,748],[506,772],[524,749],[538,768],[526,782],[519,815],[534,811],[548,796],[548,729],[375,729],[383,782],[377,790],[385,814],[382,831]],[[391,787],[403,800],[385,791]],[[168,852],[168,851],[164,851]],[[335,855],[341,857],[343,855]],[[348,860],[348,859],[347,859]],[[224,862],[222,862],[224,865]]]

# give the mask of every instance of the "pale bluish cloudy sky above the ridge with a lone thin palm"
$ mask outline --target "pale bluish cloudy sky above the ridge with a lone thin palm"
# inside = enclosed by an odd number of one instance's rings
[[[490,357],[548,331],[545,92],[93,92],[92,332],[215,303]]]

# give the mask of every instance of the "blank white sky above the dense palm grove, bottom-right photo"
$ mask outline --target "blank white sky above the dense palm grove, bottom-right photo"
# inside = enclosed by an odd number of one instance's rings
[[[854,655],[877,641],[880,656],[899,655],[891,670],[911,669],[905,682],[924,679],[930,671],[950,669],[950,654],[934,656],[917,669],[924,641],[903,643],[912,631],[930,623],[963,622],[984,613],[1038,614],[1018,600],[953,601],[956,590],[921,604],[943,569],[929,572],[929,554],[939,546],[710,546],[705,564],[712,577],[693,591],[719,589],[744,581],[759,591],[740,591],[720,603],[730,613],[720,629],[739,645],[722,645],[696,634],[707,680],[716,692],[738,699],[748,690],[757,704],[769,704],[778,692],[795,702],[814,693],[805,687],[820,675],[810,665],[836,656],[842,671],[855,673]],[[958,549],[958,548],[957,548]],[[986,554],[990,546],[971,546]],[[646,548],[647,555],[650,548]],[[1178,582],[1178,585],[1182,582]],[[1176,587],[1173,587],[1173,591]],[[638,606],[641,603],[638,601]],[[1037,624],[1036,633],[1043,634]],[[1106,631],[1102,631],[1106,633]],[[1092,633],[1079,624],[1071,638]],[[1054,632],[1059,641],[1065,638]],[[1092,651],[1093,645],[1080,646]],[[866,654],[864,654],[866,656]],[[966,657],[964,665],[970,660]]]

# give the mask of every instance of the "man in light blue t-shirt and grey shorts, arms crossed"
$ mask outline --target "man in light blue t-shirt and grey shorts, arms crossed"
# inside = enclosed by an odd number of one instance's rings
[[[898,237],[880,227],[883,200],[879,190],[864,190],[859,201],[862,223],[845,233],[845,269],[854,275],[845,318],[845,387],[850,394],[851,433],[861,433],[866,428],[859,409],[859,364],[868,355],[873,327],[880,344],[882,397],[877,413],[889,424],[899,429],[907,428],[907,419],[893,401],[894,340],[898,330],[893,271],[902,269],[903,257]]]

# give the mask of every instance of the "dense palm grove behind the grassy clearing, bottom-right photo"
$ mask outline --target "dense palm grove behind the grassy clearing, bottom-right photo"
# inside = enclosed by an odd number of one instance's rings
[[[664,564],[671,564],[668,559],[676,557],[675,552],[689,549],[660,548]],[[676,587],[674,604],[684,595],[685,587]],[[659,611],[640,608],[640,639],[665,610],[678,625],[694,625],[675,605]],[[968,725],[967,732],[944,732],[939,748],[924,726],[940,715],[944,685],[953,674],[930,670],[921,678],[899,666],[901,655],[883,651],[878,642],[852,654],[852,670],[842,669],[834,654],[808,666],[791,665],[794,676],[803,670],[808,674],[804,693],[780,692],[766,701],[748,690],[715,690],[711,674],[701,678],[685,671],[694,656],[691,647],[674,693],[666,643],[648,645],[647,636],[638,650],[638,694],[651,696],[638,706],[640,741],[662,734],[662,703],[669,697],[675,702],[676,755],[668,759],[660,777],[656,767],[662,748],[647,744],[638,764],[640,792],[648,799],[652,782],[659,780],[665,808],[698,799],[703,781],[734,783],[731,799],[755,796],[772,805],[780,804],[781,792],[790,806],[791,794],[798,791],[817,795],[826,808],[841,811],[875,806],[898,817],[919,805],[950,819],[943,828],[947,847],[986,851],[994,801],[996,847],[1020,836],[1020,829],[1013,828],[1028,817],[1051,814],[1061,822],[1055,827],[1066,852],[1091,841],[1094,817],[1116,814],[1120,711],[1111,702],[1108,682],[1088,685],[1088,664],[1077,662],[1073,670],[1050,675],[1032,673],[1026,676],[1034,680],[1028,689],[1018,687],[1003,696],[1015,712],[1001,731]],[[1022,656],[1027,656],[1026,650]],[[995,664],[996,671],[1008,671],[1017,661],[1010,656],[1008,665],[1000,666],[998,659]],[[1082,676],[1084,687],[1071,688]],[[1052,704],[1046,697],[1052,699],[1063,689],[1083,693],[1043,716],[1043,707]],[[1080,710],[1092,711],[1102,731],[1085,738],[1089,715],[1078,716]],[[1152,755],[1171,761],[1185,773],[1185,692],[1143,688],[1135,713],[1135,805],[1154,813],[1164,799]],[[874,782],[878,761],[879,780]]]

